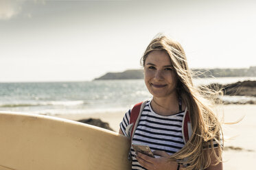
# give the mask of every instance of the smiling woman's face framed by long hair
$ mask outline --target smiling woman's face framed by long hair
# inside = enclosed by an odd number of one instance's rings
[[[176,95],[177,76],[165,51],[152,51],[144,64],[145,83],[153,97]]]

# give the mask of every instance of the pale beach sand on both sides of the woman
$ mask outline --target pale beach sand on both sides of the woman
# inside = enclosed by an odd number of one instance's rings
[[[244,117],[234,125],[223,125],[224,145],[227,148],[223,153],[224,169],[256,169],[253,168],[256,161],[254,143],[256,141],[256,105],[225,105],[218,106],[217,109],[224,112],[224,122],[234,122]],[[108,122],[110,127],[118,132],[124,112],[59,115],[58,117],[71,120],[98,118]]]

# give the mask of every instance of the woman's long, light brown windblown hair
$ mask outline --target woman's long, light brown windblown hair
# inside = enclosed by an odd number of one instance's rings
[[[181,45],[160,35],[154,38],[148,45],[141,65],[145,66],[146,58],[152,51],[165,51],[171,58],[172,66],[178,77],[176,90],[187,109],[192,123],[193,134],[187,144],[170,159],[183,162],[189,165],[185,169],[206,169],[211,164],[217,165],[222,160],[223,138],[221,123],[218,121],[212,108],[222,95],[220,90],[211,90],[205,87],[194,86],[191,71],[187,66],[185,51]],[[213,148],[213,141],[218,143],[218,147]],[[215,162],[211,158],[215,156]],[[214,157],[213,157],[214,158]]]

